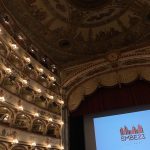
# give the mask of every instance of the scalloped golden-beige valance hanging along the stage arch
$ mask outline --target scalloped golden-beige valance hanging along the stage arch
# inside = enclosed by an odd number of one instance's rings
[[[114,86],[117,84],[127,84],[137,78],[150,81],[150,66],[136,66],[134,68],[122,69],[117,72],[109,72],[99,76],[94,76],[75,87],[68,96],[68,108],[74,111],[80,105],[84,96],[93,93],[99,86]]]

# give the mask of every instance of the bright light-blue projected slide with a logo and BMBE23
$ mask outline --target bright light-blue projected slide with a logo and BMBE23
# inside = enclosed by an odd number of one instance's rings
[[[97,150],[149,150],[150,110],[94,118]]]

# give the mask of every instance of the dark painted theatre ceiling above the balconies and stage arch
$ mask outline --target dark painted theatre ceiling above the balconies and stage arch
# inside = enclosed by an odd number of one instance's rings
[[[149,0],[1,0],[60,69],[149,42]]]

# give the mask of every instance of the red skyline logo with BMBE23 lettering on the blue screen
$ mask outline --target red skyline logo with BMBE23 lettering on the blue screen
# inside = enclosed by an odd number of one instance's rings
[[[142,125],[138,125],[137,128],[132,126],[129,130],[127,126],[120,128],[121,141],[133,141],[133,140],[144,140],[145,134]]]

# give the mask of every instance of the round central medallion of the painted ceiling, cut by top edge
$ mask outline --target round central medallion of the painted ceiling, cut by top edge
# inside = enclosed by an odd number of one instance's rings
[[[57,0],[45,3],[63,21],[80,27],[96,27],[121,16],[135,0]],[[63,9],[62,9],[63,8]],[[65,13],[68,12],[68,13]]]

